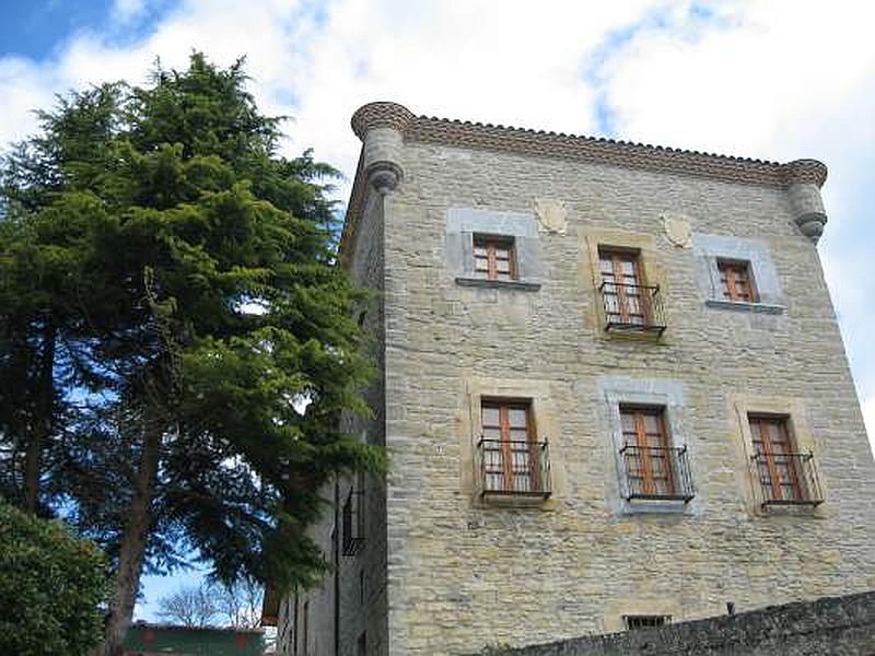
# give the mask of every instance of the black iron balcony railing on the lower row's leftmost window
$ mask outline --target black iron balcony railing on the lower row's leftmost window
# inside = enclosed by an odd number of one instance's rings
[[[550,457],[547,441],[480,438],[477,443],[479,491],[483,497],[547,499]]]

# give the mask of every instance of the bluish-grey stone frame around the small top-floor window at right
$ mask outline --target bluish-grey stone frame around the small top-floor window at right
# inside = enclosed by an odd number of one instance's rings
[[[696,258],[696,283],[707,307],[772,315],[786,311],[778,272],[765,239],[693,233],[692,253]],[[720,274],[722,261],[747,265],[756,301],[724,297]]]

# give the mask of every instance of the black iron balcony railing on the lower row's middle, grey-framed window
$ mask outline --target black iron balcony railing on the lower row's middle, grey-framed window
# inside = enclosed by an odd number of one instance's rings
[[[628,501],[682,501],[696,496],[687,447],[633,446],[620,449]]]

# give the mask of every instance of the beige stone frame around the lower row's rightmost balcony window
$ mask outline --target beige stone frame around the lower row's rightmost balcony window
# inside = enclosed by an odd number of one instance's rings
[[[805,403],[801,399],[789,397],[768,397],[752,395],[732,395],[728,399],[732,434],[735,445],[735,478],[747,511],[759,517],[772,515],[794,515],[824,517],[829,513],[829,493],[824,480],[822,469],[818,467],[817,442],[808,423]],[[754,437],[750,432],[750,415],[783,417],[786,430],[796,452],[810,452],[818,467],[818,479],[824,503],[817,506],[767,506],[760,503],[759,482],[752,456],[756,453]]]

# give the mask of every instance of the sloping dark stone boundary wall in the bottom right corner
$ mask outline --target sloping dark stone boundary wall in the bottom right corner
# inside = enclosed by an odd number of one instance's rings
[[[875,591],[648,629],[481,652],[491,656],[873,656]]]

